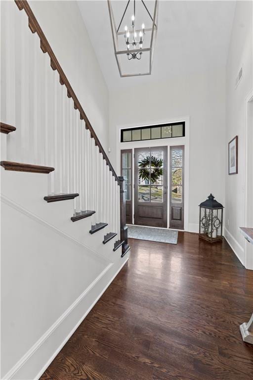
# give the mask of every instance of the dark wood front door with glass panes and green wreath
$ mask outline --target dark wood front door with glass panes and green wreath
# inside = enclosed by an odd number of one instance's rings
[[[167,228],[167,146],[134,149],[134,224]]]

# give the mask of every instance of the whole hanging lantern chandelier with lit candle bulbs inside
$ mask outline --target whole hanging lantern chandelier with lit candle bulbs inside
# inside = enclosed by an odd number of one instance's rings
[[[120,76],[150,75],[157,31],[158,0],[148,1],[149,8],[144,0],[127,0],[126,2],[123,14],[119,17],[119,9],[113,10],[113,8],[117,8],[118,1],[108,0],[114,53]],[[138,9],[136,5],[138,5]],[[118,10],[118,13],[115,10]],[[118,23],[116,18],[118,18]],[[146,27],[144,21],[148,24]],[[127,24],[129,25],[129,23],[130,27],[128,28]],[[138,61],[141,58],[142,61],[145,60],[142,65],[142,71],[140,66],[131,65],[130,67],[126,63],[131,60]]]

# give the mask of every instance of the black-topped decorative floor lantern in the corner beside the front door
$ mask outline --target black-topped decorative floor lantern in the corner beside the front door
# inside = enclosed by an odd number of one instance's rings
[[[212,194],[200,204],[199,238],[211,243],[222,240],[223,206]]]

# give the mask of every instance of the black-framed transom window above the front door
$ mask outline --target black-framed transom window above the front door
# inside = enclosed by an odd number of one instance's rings
[[[121,130],[121,142],[171,139],[185,136],[185,122]]]

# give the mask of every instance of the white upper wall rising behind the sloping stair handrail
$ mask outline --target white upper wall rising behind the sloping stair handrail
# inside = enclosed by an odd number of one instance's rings
[[[56,58],[105,150],[108,90],[76,1],[29,1]]]

